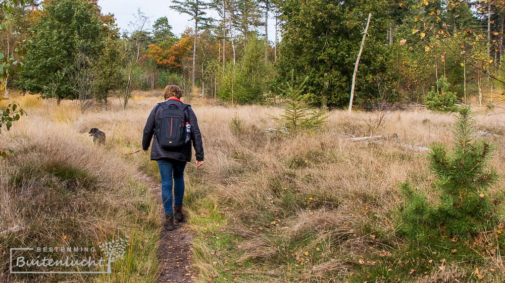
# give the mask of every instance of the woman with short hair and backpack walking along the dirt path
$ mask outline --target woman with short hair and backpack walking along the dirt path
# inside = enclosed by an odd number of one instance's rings
[[[180,100],[181,97],[182,90],[178,86],[167,86],[166,101],[158,103],[151,110],[142,136],[144,151],[149,149],[151,139],[155,136],[151,160],[158,162],[165,209],[164,226],[169,231],[174,230],[174,219],[184,219],[184,169],[186,163],[191,161],[191,144],[195,151],[196,168],[204,164],[204,146],[196,115],[190,105]]]

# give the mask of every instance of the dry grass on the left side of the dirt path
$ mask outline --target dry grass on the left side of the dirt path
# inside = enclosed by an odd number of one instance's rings
[[[15,100],[21,104],[32,97]],[[75,130],[82,118],[75,103],[22,105],[28,116],[2,133],[2,146],[15,153],[0,162],[0,230],[16,225],[26,230],[4,235],[0,246],[96,247],[125,235],[130,246],[125,260],[113,265],[115,272],[102,276],[13,276],[7,271],[9,254],[3,253],[0,280],[154,281],[160,220],[136,165],[111,147],[92,146],[87,131]]]

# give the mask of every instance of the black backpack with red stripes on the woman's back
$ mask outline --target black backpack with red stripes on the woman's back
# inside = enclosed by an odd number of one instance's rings
[[[186,121],[184,111],[189,104],[158,103],[161,114],[156,125],[156,137],[163,149],[174,150],[186,145]]]

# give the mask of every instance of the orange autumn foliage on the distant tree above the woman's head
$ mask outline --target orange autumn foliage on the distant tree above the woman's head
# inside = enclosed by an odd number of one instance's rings
[[[191,50],[192,39],[183,37],[179,42],[168,47],[163,43],[160,45],[149,44],[147,56],[156,60],[156,63],[161,67],[171,70],[180,70],[182,68],[182,60]]]

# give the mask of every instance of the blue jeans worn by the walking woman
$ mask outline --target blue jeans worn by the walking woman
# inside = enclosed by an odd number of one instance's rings
[[[165,214],[172,215],[174,213],[173,199],[175,199],[175,205],[182,205],[182,199],[184,198],[184,168],[186,168],[186,162],[158,160],[158,168],[161,175],[161,198]],[[174,184],[174,197],[172,197],[172,184]]]

